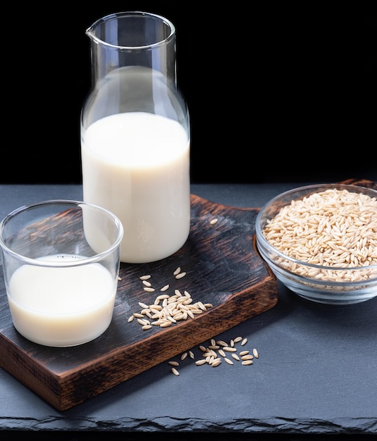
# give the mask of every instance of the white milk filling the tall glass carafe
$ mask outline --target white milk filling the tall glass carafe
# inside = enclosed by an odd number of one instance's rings
[[[164,259],[190,232],[190,140],[182,125],[152,113],[97,120],[82,139],[84,200],[123,224],[120,261]]]

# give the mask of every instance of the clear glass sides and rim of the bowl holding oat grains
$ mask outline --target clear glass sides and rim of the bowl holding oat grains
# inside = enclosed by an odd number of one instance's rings
[[[296,257],[291,256],[290,251],[287,251],[287,249],[285,249],[285,253],[281,250],[279,251],[271,244],[271,240],[268,241],[263,234],[268,221],[275,218],[280,212],[280,209],[284,206],[290,206],[292,200],[303,199],[304,197],[309,197],[311,194],[333,190],[335,188],[353,193],[366,194],[374,198],[375,202],[377,200],[377,190],[359,187],[357,185],[307,185],[288,190],[274,197],[271,201],[268,201],[259,211],[256,220],[257,248],[261,257],[268,263],[271,271],[276,275],[276,278],[299,296],[313,302],[325,304],[354,304],[365,302],[377,295],[377,263],[374,263],[376,259],[373,258],[371,260],[372,264],[368,266],[352,267],[348,266],[349,263],[338,263],[340,266],[333,266],[326,262],[324,264],[310,263],[309,259],[308,261],[304,261],[304,259],[298,260],[297,254]],[[372,204],[374,204],[374,202]],[[333,211],[335,211],[335,209],[333,209]],[[376,222],[373,222],[376,225]],[[303,221],[299,228],[305,229],[305,223],[306,222]],[[346,234],[347,228],[347,225],[345,228],[342,228],[342,231]],[[349,235],[350,231],[351,228],[348,228]],[[373,256],[377,256],[377,228],[374,227],[369,233],[372,240],[369,252],[371,252]],[[299,233],[297,234],[299,236]],[[357,234],[359,233],[357,232]],[[311,236],[312,241],[314,240],[314,248],[316,240],[319,241],[320,239],[319,230],[316,230],[316,234],[312,234]],[[290,240],[295,241],[295,235],[290,236]],[[369,242],[368,239],[367,241]],[[277,246],[280,246],[280,244]],[[343,249],[340,247],[342,247],[342,244],[339,246],[338,251],[339,254],[342,254]],[[316,259],[313,258],[311,260],[316,261]],[[321,261],[321,263],[323,263],[323,261]]]

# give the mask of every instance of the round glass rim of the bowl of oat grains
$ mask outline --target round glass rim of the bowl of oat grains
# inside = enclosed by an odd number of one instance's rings
[[[290,195],[290,194],[294,194],[296,192],[299,191],[308,191],[309,190],[318,190],[319,188],[323,188],[323,189],[331,189],[331,188],[340,188],[342,190],[360,190],[359,193],[362,194],[366,194],[366,193],[370,193],[372,195],[374,195],[374,197],[377,199],[377,190],[374,190],[373,188],[369,188],[369,187],[364,187],[361,185],[352,185],[352,184],[336,184],[336,183],[323,183],[323,184],[311,184],[311,185],[303,185],[302,187],[294,187],[290,190],[286,190],[285,192],[282,192],[278,195],[276,195],[275,197],[273,197],[272,199],[270,199],[269,201],[266,202],[266,204],[264,204],[261,209],[259,210],[259,213],[257,214],[257,218],[255,220],[255,232],[256,232],[256,236],[257,236],[257,244],[259,242],[259,244],[261,244],[261,246],[263,246],[265,249],[268,249],[269,252],[273,252],[274,254],[276,254],[276,256],[278,258],[281,259],[285,259],[288,261],[291,261],[292,263],[296,263],[297,265],[302,265],[302,266],[307,266],[309,268],[315,268],[318,270],[333,270],[333,271],[361,271],[361,270],[377,270],[377,263],[373,264],[373,265],[368,265],[368,266],[342,266],[342,267],[333,267],[333,266],[323,266],[323,265],[317,265],[316,263],[309,263],[309,262],[305,262],[305,261],[300,261],[295,259],[292,256],[288,256],[288,254],[284,254],[281,251],[279,251],[278,249],[276,249],[275,247],[273,247],[273,245],[271,245],[270,242],[268,242],[268,240],[266,240],[266,238],[264,237],[264,235],[262,234],[262,228],[261,228],[261,218],[264,215],[266,209],[268,209],[268,207],[272,206],[273,204],[276,203],[276,201],[278,201],[279,199],[283,199],[284,197]],[[310,194],[310,193],[309,193]],[[370,194],[369,194],[370,195]],[[302,196],[304,197],[304,196]],[[293,199],[293,198],[292,198]],[[288,201],[287,204],[288,205],[290,202]],[[282,205],[283,207],[284,205]],[[259,249],[259,252],[261,252],[261,250]],[[274,260],[274,262],[276,263],[276,261]],[[288,268],[284,268],[285,271],[288,271],[289,273],[298,275],[297,273],[288,270]],[[306,276],[304,276],[306,277]],[[377,276],[376,276],[377,277]],[[307,278],[309,280],[316,280],[314,278]],[[372,278],[371,280],[374,280],[375,278]],[[367,280],[364,280],[364,282],[366,282]],[[340,283],[345,283],[345,282],[340,282]]]

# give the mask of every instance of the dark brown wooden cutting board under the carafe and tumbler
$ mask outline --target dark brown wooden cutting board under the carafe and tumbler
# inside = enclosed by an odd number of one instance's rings
[[[275,306],[276,278],[255,244],[259,209],[214,204],[193,194],[191,207],[190,236],[180,251],[154,263],[121,263],[113,321],[87,344],[53,348],[22,337],[13,327],[1,267],[0,366],[62,411]],[[185,277],[175,278],[178,267]],[[147,274],[156,292],[144,291],[140,277]],[[187,290],[194,302],[212,306],[168,328],[142,330],[135,319],[129,323],[142,309],[139,302],[154,303],[167,284],[165,294]]]

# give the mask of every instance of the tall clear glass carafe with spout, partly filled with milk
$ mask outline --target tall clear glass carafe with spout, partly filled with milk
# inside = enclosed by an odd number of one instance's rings
[[[84,200],[123,224],[120,261],[171,256],[190,232],[190,118],[177,87],[175,27],[153,13],[93,23],[81,114]]]

